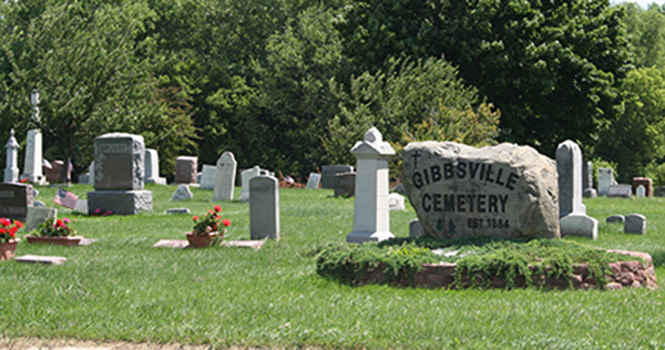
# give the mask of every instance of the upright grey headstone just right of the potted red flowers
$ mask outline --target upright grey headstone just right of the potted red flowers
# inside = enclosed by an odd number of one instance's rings
[[[252,239],[279,239],[279,182],[273,176],[249,181],[249,235]]]

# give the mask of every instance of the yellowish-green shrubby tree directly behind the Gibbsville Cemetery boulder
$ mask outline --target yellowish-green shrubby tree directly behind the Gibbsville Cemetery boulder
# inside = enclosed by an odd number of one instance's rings
[[[395,62],[386,73],[355,78],[349,91],[335,90],[340,112],[324,140],[331,163],[352,164],[349,150],[371,126],[398,150],[429,137],[483,145],[497,136],[498,112],[487,104],[473,107],[479,105],[475,89],[464,85],[442,59]],[[464,135],[471,130],[478,136]]]

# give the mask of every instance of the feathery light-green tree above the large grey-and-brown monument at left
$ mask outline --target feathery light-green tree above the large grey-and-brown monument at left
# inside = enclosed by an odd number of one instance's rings
[[[136,55],[144,45],[140,35],[154,14],[145,2],[51,1],[24,19],[19,14],[27,3],[31,2],[8,6],[8,21],[18,25],[4,32],[9,41],[3,52],[10,63],[11,96],[24,101],[32,89],[41,92],[38,126],[54,145],[47,154],[59,153],[66,162],[79,157],[78,165],[84,167],[96,135],[141,132],[146,119],[154,121],[170,110],[155,87],[150,62]],[[165,124],[156,132],[187,146],[190,121]]]

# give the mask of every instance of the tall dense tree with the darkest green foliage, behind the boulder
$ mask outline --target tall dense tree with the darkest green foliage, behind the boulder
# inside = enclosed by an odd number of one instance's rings
[[[593,146],[615,117],[630,69],[623,13],[607,0],[359,0],[341,32],[368,68],[444,56],[501,110],[501,138],[553,155],[566,138]]]

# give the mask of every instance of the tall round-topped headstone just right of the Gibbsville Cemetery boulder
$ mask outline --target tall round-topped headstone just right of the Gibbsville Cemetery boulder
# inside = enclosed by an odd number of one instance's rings
[[[556,148],[556,172],[559,173],[559,215],[586,213],[582,204],[582,151],[566,140]]]

